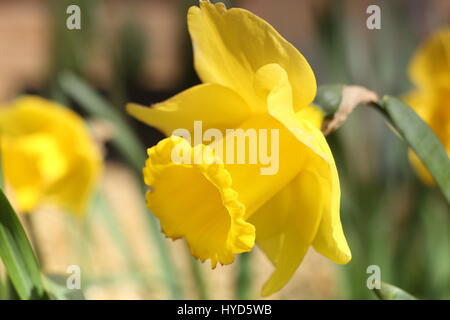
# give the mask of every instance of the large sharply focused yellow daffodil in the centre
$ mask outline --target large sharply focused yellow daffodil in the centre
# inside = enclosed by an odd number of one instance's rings
[[[267,22],[223,3],[200,1],[189,9],[188,26],[203,84],[151,108],[127,106],[169,136],[148,150],[144,168],[147,205],[163,232],[185,238],[192,254],[210,259],[213,268],[232,263],[256,240],[275,266],[264,296],[289,281],[311,246],[347,263],[338,174],[319,129],[322,114],[310,106],[316,82],[305,58]],[[171,135],[178,128],[194,132],[196,120],[223,139],[191,144]],[[215,147],[234,138],[230,128],[277,130],[276,173],[262,174],[262,163],[219,157]],[[192,161],[174,161],[174,151]]]

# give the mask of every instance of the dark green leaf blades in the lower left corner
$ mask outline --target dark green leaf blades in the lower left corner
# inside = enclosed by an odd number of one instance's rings
[[[19,218],[0,190],[0,257],[21,299],[47,299],[40,268]]]

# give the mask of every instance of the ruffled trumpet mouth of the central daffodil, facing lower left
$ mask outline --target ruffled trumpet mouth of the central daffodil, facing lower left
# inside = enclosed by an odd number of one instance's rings
[[[202,262],[210,259],[212,268],[217,262],[230,264],[235,254],[253,248],[255,228],[244,220],[245,205],[213,149],[203,144],[192,147],[171,136],[147,152],[143,170],[150,187],[147,206],[168,237],[185,238],[192,255]],[[188,155],[184,158],[188,161],[174,155]],[[199,156],[201,160],[195,161]]]

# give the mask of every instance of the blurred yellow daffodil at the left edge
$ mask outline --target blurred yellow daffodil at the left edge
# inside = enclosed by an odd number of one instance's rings
[[[101,154],[73,111],[36,96],[0,108],[5,181],[18,210],[52,203],[82,215],[101,169]]]

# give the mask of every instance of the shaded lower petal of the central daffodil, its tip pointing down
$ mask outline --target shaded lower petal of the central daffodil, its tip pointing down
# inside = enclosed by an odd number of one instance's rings
[[[275,266],[262,295],[280,290],[303,260],[319,226],[323,186],[310,171],[302,171],[251,218],[256,241]]]

